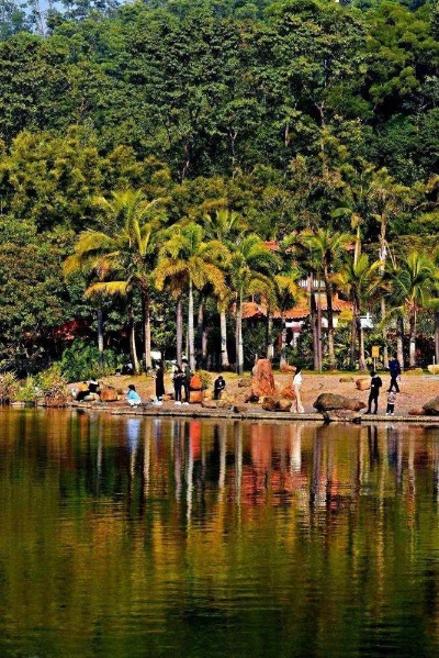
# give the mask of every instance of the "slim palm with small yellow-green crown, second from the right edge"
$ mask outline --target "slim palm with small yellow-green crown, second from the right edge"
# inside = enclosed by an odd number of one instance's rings
[[[369,263],[369,256],[361,254],[357,260],[349,260],[345,267],[336,274],[334,281],[349,294],[352,301],[352,328],[350,342],[350,361],[351,367],[354,367],[357,336],[359,338],[359,367],[360,370],[365,369],[364,355],[364,335],[360,321],[361,309],[368,304],[370,298],[378,290],[381,282],[379,269],[381,260]]]

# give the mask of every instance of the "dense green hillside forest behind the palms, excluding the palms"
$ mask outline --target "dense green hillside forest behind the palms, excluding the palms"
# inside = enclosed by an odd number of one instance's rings
[[[58,356],[63,345],[48,345],[50,332],[81,319],[90,335],[99,333],[102,304],[106,346],[127,350],[140,308],[138,346],[142,332],[159,347],[169,343],[164,327],[193,281],[178,290],[168,260],[167,297],[158,297],[158,250],[140,264],[144,282],[133,299],[85,300],[90,286],[115,288],[117,277],[102,268],[85,272],[82,287],[78,277],[64,279],[61,264],[81,232],[121,234],[125,220],[97,202],[114,192],[138,190],[158,203],[175,241],[177,223],[201,226],[226,209],[262,241],[353,230],[371,263],[385,253],[397,266],[410,249],[431,255],[437,247],[432,2],[66,1],[46,16],[31,9],[0,4],[3,357]],[[291,258],[282,258],[285,271]],[[300,265],[302,276],[318,270],[302,256]],[[233,281],[233,267],[223,275]],[[211,299],[215,324],[215,304],[235,298],[212,301],[204,278],[195,287]],[[434,288],[426,294],[435,297]],[[359,303],[358,312],[373,310],[371,298]],[[135,314],[131,325],[126,310]],[[165,317],[149,326],[149,314]],[[125,345],[114,337],[121,332]]]

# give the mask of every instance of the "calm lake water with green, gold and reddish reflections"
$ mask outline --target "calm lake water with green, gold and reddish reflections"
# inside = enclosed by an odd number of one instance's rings
[[[439,427],[0,411],[0,656],[439,655]]]

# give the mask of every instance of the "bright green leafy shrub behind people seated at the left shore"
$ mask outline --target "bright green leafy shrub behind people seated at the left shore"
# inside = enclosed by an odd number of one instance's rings
[[[111,350],[105,350],[103,358],[103,367],[100,367],[98,347],[83,341],[75,341],[63,353],[61,372],[67,381],[85,381],[86,379],[113,375],[117,367],[122,365],[119,363],[117,356]]]

